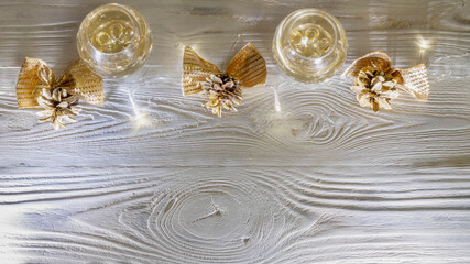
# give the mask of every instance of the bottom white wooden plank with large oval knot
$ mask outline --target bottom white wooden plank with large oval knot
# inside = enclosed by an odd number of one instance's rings
[[[463,263],[468,173],[26,168],[2,195],[23,212],[7,233],[25,262]]]

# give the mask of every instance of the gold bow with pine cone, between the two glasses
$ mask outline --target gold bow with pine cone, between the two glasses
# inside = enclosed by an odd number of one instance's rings
[[[186,46],[182,81],[185,96],[200,92],[200,97],[209,99],[203,106],[220,118],[222,109],[237,111],[234,106],[239,106],[242,100],[242,87],[264,85],[266,62],[253,44],[248,43],[222,73]]]

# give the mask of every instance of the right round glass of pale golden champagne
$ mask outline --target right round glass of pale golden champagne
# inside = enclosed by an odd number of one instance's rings
[[[294,79],[319,82],[345,64],[348,41],[341,23],[318,9],[302,9],[287,15],[273,40],[274,58]]]

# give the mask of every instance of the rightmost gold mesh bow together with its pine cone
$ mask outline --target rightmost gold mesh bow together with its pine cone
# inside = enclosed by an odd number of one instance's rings
[[[375,51],[356,59],[342,74],[354,77],[351,90],[358,94],[361,107],[392,109],[390,101],[398,97],[398,89],[412,94],[418,100],[429,97],[429,82],[424,64],[401,69],[382,51]]]

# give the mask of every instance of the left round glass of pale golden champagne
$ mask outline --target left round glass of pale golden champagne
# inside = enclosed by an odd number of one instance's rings
[[[128,76],[145,63],[152,51],[152,35],[134,9],[109,3],[91,11],[77,34],[81,59],[105,78]]]

